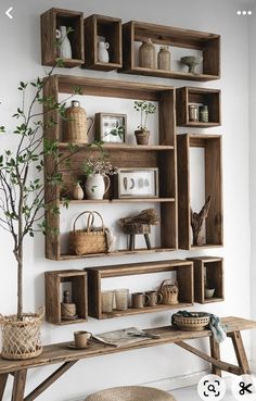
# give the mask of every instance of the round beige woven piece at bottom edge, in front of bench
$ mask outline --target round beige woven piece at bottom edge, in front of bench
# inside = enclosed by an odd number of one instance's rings
[[[94,392],[86,401],[176,401],[166,391],[143,386],[113,387]]]

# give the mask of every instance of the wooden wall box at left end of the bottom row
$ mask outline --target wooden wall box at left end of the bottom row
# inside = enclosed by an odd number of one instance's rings
[[[67,325],[87,322],[87,273],[84,271],[53,271],[44,273],[46,283],[46,319],[55,325]],[[61,315],[63,293],[61,284],[71,283],[72,302],[76,304],[78,317],[75,321],[64,321]]]

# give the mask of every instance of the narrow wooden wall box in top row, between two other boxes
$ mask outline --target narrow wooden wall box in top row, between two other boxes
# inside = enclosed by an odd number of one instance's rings
[[[98,37],[110,45],[110,62],[98,59]],[[85,64],[82,68],[112,71],[121,67],[121,20],[104,15],[90,15],[85,20]]]

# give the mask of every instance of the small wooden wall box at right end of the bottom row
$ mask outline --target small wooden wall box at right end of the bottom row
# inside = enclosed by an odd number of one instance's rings
[[[215,256],[188,258],[194,263],[194,301],[210,303],[223,301],[223,259]],[[205,277],[208,288],[215,288],[213,298],[205,297]]]

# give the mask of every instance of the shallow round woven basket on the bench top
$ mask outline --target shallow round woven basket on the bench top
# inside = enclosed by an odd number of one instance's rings
[[[209,316],[206,316],[204,312],[193,313],[194,316],[185,317],[179,314],[172,315],[174,324],[187,331],[200,331],[206,328],[209,324]]]

